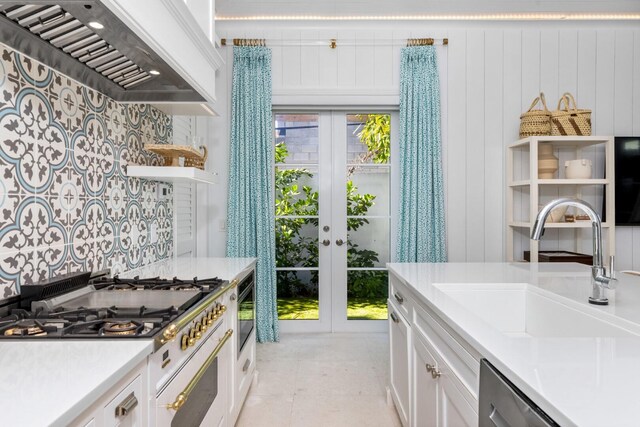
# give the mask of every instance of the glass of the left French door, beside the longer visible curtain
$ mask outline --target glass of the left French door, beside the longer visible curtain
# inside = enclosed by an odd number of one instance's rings
[[[276,114],[275,209],[278,317],[318,320],[318,114]]]

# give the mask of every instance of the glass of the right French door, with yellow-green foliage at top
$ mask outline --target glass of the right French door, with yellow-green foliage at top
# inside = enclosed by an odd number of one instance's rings
[[[347,319],[383,320],[390,261],[391,116],[348,114],[346,127]]]

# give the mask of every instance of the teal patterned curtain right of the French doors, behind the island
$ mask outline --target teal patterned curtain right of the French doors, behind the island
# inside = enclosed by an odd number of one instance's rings
[[[396,261],[445,262],[436,48],[406,47],[401,55],[400,212]]]

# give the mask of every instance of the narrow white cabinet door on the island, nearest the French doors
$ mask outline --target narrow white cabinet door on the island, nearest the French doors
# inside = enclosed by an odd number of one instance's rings
[[[409,425],[410,377],[409,349],[411,330],[409,323],[389,300],[390,389],[402,425]]]

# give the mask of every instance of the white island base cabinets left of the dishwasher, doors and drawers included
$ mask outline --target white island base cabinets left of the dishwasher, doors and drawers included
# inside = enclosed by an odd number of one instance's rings
[[[389,295],[389,390],[402,424],[477,426],[480,355],[393,272]]]

